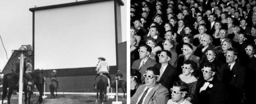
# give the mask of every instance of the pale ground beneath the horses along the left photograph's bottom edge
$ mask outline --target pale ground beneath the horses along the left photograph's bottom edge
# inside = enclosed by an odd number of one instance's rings
[[[50,99],[49,95],[47,98],[45,98],[42,102],[42,104],[80,104],[80,103],[86,103],[86,104],[95,104],[96,96],[93,95],[58,95],[54,99]],[[2,97],[1,97],[2,98]],[[2,100],[2,99],[1,99]],[[7,100],[5,98],[4,100]],[[32,95],[31,104],[37,103],[38,96]],[[119,101],[122,101],[122,104],[126,104],[126,99],[122,99],[122,96],[119,96]],[[107,99],[107,102],[103,102],[104,104],[111,104],[112,101],[115,101],[115,99]],[[12,95],[11,96],[11,103],[18,103],[18,95]],[[24,102],[23,102],[24,103]]]

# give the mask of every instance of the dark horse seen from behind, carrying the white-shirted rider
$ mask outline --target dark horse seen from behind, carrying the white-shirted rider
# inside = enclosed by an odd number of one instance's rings
[[[108,86],[107,76],[100,75],[96,78],[97,100],[98,100],[98,91],[100,91],[100,103],[103,103],[104,96],[105,96],[105,101],[107,101],[107,86]],[[97,100],[96,100],[96,103],[97,103]]]

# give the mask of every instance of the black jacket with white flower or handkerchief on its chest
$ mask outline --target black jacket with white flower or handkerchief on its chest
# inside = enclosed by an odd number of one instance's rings
[[[200,89],[204,86],[205,80],[201,80],[197,83],[195,88],[195,96],[192,101],[193,104],[220,104],[224,103],[226,95],[226,87],[224,83],[218,80],[218,78],[213,78],[210,82],[210,85],[213,85],[212,88],[209,86],[206,90],[201,91]]]

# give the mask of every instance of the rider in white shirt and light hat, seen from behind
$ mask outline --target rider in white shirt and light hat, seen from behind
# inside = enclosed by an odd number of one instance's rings
[[[95,80],[96,80],[96,78],[100,75],[100,73],[102,73],[102,75],[105,75],[105,76],[107,76],[108,77],[108,79],[109,80],[111,80],[111,76],[109,75],[109,73],[108,73],[108,71],[109,71],[109,66],[108,66],[108,63],[107,62],[105,62],[105,58],[103,58],[103,57],[99,57],[98,58],[98,65],[97,65],[97,67],[96,67],[96,71],[97,71],[97,75],[96,75],[96,77],[95,77]],[[111,81],[110,81],[110,83],[111,83]],[[111,84],[110,84],[111,85]],[[109,86],[110,86],[109,85]],[[95,86],[95,83],[93,83],[93,86]]]

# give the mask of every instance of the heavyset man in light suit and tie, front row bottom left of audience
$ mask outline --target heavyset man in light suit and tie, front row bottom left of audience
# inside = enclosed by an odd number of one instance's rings
[[[146,84],[137,88],[136,93],[131,98],[131,104],[167,103],[169,91],[165,86],[158,83],[159,75],[160,70],[158,68],[147,68],[146,73],[143,74]]]

